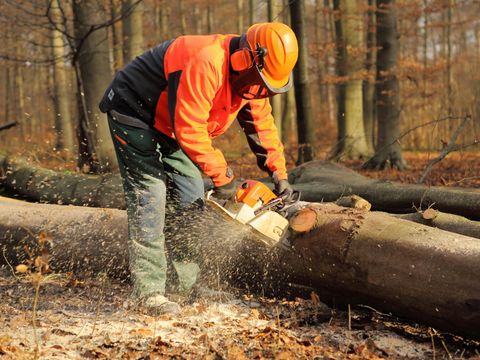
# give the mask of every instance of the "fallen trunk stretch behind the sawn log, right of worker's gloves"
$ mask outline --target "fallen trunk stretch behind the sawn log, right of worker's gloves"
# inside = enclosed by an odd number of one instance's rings
[[[312,161],[289,173],[302,199],[311,202],[336,201],[340,196],[359,195],[373,210],[409,213],[413,209],[435,208],[451,214],[480,219],[480,190],[443,186],[404,185],[370,179],[353,170],[328,162]]]

